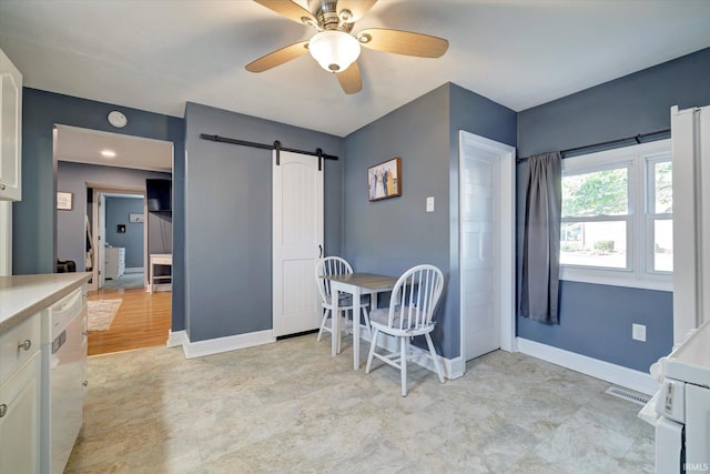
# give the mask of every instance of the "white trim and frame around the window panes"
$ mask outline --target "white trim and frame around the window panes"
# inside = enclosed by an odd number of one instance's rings
[[[647,210],[645,183],[647,179],[647,163],[658,161],[663,157],[670,158],[671,141],[658,140],[632,147],[600,151],[562,160],[562,173],[585,173],[604,169],[618,168],[625,163],[629,167],[629,220],[627,242],[631,249],[628,269],[599,269],[580,265],[560,264],[560,280],[584,283],[606,284],[612,286],[638,288],[646,290],[672,291],[672,273],[656,272],[649,261],[648,242],[639,242],[637,232],[642,230],[643,239],[650,236],[648,229],[653,219]],[[630,164],[629,164],[630,162]],[[641,206],[640,209],[638,209]],[[659,214],[655,214],[659,215]]]

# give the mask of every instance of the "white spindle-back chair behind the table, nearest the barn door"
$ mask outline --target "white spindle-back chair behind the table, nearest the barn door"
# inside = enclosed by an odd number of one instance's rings
[[[331,333],[333,337],[333,300],[331,294],[331,281],[324,279],[324,275],[339,275],[353,273],[353,266],[343,258],[339,256],[326,256],[321,259],[318,264],[315,268],[315,280],[316,285],[318,286],[318,293],[321,294],[321,305],[323,307],[323,319],[321,320],[321,330],[318,331],[317,341],[321,341],[321,336],[324,331]],[[363,310],[363,319],[365,321],[364,327],[367,329],[372,336],[372,329],[369,325],[369,315],[367,313],[367,306],[369,305],[369,295],[363,295],[361,300],[361,309]],[[341,294],[338,300],[338,311],[341,312],[341,316],[343,317],[343,322],[341,323],[342,332],[347,332],[348,330],[348,311],[353,310],[353,296],[349,294]],[[331,320],[331,325],[327,324],[328,320]],[[355,316],[353,316],[355,320]],[[359,323],[359,317],[356,319],[357,323]],[[341,337],[337,341],[337,352],[341,352]]]

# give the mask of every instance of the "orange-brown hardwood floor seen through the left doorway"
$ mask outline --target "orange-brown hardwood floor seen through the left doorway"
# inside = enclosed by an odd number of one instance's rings
[[[89,300],[113,299],[123,302],[108,331],[89,334],[89,355],[165,345],[172,292],[148,293],[143,288],[89,292]]]

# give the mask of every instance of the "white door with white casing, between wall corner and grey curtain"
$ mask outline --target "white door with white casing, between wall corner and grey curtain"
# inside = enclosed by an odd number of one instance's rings
[[[511,147],[462,132],[459,259],[465,361],[499,347],[513,349],[514,160]]]

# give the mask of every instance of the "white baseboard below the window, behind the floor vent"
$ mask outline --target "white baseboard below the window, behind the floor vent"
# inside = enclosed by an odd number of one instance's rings
[[[565,351],[551,345],[540,344],[539,342],[527,339],[516,339],[518,351],[532,357],[541,359],[636,392],[646,393],[647,395],[653,395],[659,389],[658,382],[656,382],[650,374],[622,367],[621,365],[610,364],[609,362]]]

